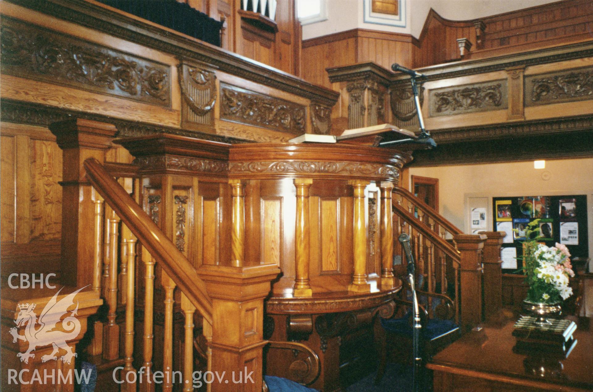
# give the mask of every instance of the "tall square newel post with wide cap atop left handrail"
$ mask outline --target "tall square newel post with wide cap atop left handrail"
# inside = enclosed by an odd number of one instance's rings
[[[114,125],[93,120],[70,119],[49,129],[62,149],[62,253],[63,285],[82,287],[93,283],[95,206],[91,184],[82,163],[87,158],[105,161],[105,152],[116,134]],[[95,285],[96,286],[96,285]]]

